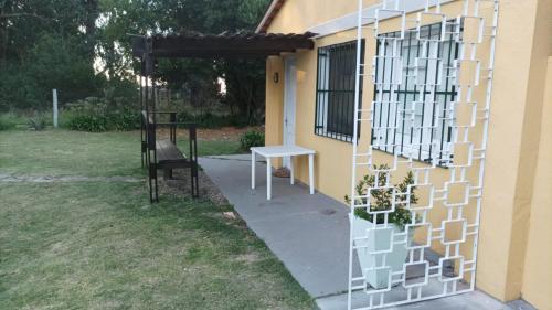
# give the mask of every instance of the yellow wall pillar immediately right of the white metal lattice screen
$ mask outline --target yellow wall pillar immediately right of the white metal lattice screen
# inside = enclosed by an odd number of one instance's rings
[[[477,285],[502,300],[522,297],[540,128],[550,121],[542,118],[550,13],[549,0],[501,1]],[[539,285],[552,292],[551,281]]]

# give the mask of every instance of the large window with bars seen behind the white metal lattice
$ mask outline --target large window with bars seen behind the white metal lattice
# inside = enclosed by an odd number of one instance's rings
[[[378,39],[374,149],[424,162],[435,159],[438,165],[452,162],[452,103],[457,96],[454,67],[458,58],[455,35],[460,32],[460,25],[449,22],[446,26],[422,26],[420,33],[406,31],[401,40],[401,32]],[[397,53],[400,58],[394,57]]]

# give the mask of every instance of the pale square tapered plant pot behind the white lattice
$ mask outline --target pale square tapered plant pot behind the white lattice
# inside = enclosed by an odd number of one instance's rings
[[[403,270],[408,250],[406,249],[406,243],[391,246],[390,238],[392,235],[401,234],[404,231],[395,224],[388,224],[388,228],[383,228],[383,224],[374,225],[372,222],[358,216],[351,218],[351,214],[349,214],[349,220],[353,225],[354,246],[360,247],[357,248],[357,255],[362,276],[374,289],[391,288],[390,275]],[[413,237],[413,233],[407,236],[407,244],[412,243]],[[374,253],[381,252],[388,252],[385,267],[374,268],[374,266],[382,266],[384,255],[374,255]]]

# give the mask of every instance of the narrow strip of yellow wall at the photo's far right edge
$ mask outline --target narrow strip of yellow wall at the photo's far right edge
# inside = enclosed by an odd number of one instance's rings
[[[533,72],[546,74],[541,108],[541,132],[535,157],[534,185],[524,257],[521,295],[539,309],[552,309],[552,1],[541,1],[535,31]],[[548,56],[548,63],[543,58]],[[534,78],[533,78],[534,82]],[[542,83],[541,81],[537,81]]]

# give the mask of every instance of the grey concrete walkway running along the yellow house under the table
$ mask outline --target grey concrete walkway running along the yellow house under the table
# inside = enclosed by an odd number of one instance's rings
[[[349,221],[344,204],[319,193],[309,195],[307,186],[279,178],[273,178],[268,202],[264,162],[257,162],[257,188],[251,190],[250,156],[201,158],[200,164],[320,309],[347,308]],[[390,309],[531,309],[520,304],[511,308],[475,291]]]

